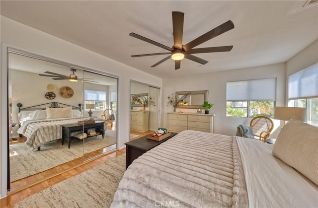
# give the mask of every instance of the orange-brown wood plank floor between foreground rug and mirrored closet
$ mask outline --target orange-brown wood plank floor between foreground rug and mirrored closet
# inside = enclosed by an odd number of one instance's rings
[[[131,131],[130,132],[131,134],[140,135],[139,137],[133,138],[131,140],[138,139],[138,138],[143,137],[145,135],[148,135],[152,132],[153,131],[148,131],[148,132],[142,133],[142,132],[137,132],[137,131]],[[91,156],[95,156],[95,155],[100,154],[102,152],[109,151],[109,149],[115,148],[115,147],[116,146],[110,146],[110,147],[106,147],[106,148],[103,148],[101,150],[92,152],[89,155],[86,154],[85,158],[89,158]],[[55,168],[52,168],[50,170],[36,174],[32,177],[28,177],[24,180],[20,180],[16,184],[11,183],[11,189],[13,189],[14,187],[17,188],[17,187],[20,187],[21,185],[30,184],[30,182],[36,182],[35,184],[29,185],[20,191],[8,193],[7,197],[0,200],[0,208],[12,208],[13,205],[16,204],[17,202],[19,202],[19,201],[37,193],[37,192],[40,192],[40,191],[42,191],[42,190],[44,190],[44,189],[46,189],[54,184],[57,184],[57,183],[64,181],[68,178],[71,178],[72,176],[75,176],[75,175],[82,173],[86,170],[89,170],[93,167],[96,167],[97,165],[105,163],[108,160],[110,160],[114,157],[118,157],[124,153],[126,153],[126,148],[116,150],[114,152],[103,155],[101,157],[96,157],[95,159],[90,160],[88,162],[84,162],[84,163],[82,163],[83,158],[81,157],[81,158],[78,158],[76,160],[73,160],[73,161],[70,161],[68,163],[57,166]],[[80,160],[80,163],[79,163],[79,160]],[[78,166],[76,166],[77,164],[78,164]],[[67,171],[63,171],[63,170],[65,170],[65,168],[71,168],[71,167],[74,167],[74,168],[67,170]],[[52,174],[52,173],[56,173],[56,174]],[[41,181],[41,178],[43,178],[43,176],[48,176],[48,175],[52,175],[52,177],[49,179]]]

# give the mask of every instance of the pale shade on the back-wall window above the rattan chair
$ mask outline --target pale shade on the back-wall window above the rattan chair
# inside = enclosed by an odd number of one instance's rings
[[[227,82],[227,101],[276,100],[276,78]]]

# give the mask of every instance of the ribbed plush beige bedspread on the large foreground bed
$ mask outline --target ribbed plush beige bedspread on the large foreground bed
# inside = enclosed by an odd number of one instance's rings
[[[188,130],[134,160],[111,207],[164,206],[248,207],[236,139]]]

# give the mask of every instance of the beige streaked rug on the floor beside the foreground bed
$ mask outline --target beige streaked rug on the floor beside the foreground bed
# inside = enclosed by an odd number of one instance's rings
[[[14,208],[109,208],[125,172],[126,154],[55,184]]]

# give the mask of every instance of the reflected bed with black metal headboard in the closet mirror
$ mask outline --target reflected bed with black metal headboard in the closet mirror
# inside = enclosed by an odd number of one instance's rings
[[[18,103],[17,106],[20,126],[17,133],[27,138],[25,144],[32,150],[40,150],[42,144],[61,139],[62,125],[75,124],[86,119],[81,115],[81,104],[76,107],[52,102],[21,108],[22,104]]]

